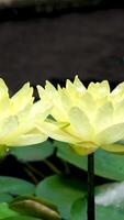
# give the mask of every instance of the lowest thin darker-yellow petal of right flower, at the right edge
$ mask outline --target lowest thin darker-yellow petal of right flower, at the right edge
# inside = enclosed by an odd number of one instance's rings
[[[124,152],[124,144],[104,144],[101,145],[101,148],[109,151],[109,152],[113,152],[113,153],[123,153]]]

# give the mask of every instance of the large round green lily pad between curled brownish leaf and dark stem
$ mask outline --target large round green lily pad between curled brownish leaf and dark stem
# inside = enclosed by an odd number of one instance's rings
[[[80,196],[86,196],[86,186],[76,179],[50,176],[41,182],[36,195],[58,207],[64,219],[69,219],[70,207]]]

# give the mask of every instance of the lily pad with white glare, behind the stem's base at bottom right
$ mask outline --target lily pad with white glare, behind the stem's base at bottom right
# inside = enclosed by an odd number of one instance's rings
[[[124,220],[124,182],[111,183],[95,188],[97,220],[110,217]],[[71,207],[71,220],[87,220],[87,199],[78,199]]]

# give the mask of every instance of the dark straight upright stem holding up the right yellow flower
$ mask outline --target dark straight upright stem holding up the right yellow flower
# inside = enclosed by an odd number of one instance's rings
[[[88,155],[88,220],[95,220],[94,210],[94,154]]]

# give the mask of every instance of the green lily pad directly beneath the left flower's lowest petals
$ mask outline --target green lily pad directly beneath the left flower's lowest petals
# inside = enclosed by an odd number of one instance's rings
[[[10,150],[10,154],[14,155],[22,162],[35,162],[45,160],[46,157],[50,156],[53,152],[54,145],[49,141],[26,147],[11,147]]]

